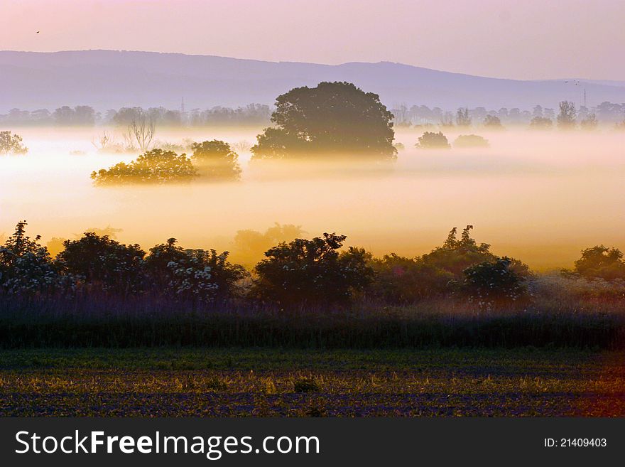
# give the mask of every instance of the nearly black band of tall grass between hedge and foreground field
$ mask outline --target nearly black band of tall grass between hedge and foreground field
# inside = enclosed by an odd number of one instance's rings
[[[45,314],[0,318],[1,348],[625,348],[625,315],[498,312],[450,316],[413,313],[204,313],[156,316]]]

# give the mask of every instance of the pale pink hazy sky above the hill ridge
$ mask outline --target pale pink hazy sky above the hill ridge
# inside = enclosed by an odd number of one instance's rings
[[[1,0],[0,50],[390,60],[625,80],[624,25],[625,0]]]

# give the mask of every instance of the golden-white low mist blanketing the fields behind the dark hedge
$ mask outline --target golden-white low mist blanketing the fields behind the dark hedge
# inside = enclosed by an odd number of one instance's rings
[[[414,146],[423,131],[400,129],[396,141],[405,149],[394,162],[354,154],[332,163],[250,163],[244,148],[261,130],[158,131],[161,143],[240,143],[239,182],[100,188],[92,171],[136,154],[98,153],[92,139],[102,129],[19,129],[29,151],[0,157],[0,234],[24,219],[43,243],[112,227],[120,229],[117,240],[144,249],[176,237],[185,247],[228,249],[233,261],[252,262],[260,257],[237,257],[234,236],[275,222],[300,225],[305,237],[337,232],[376,255],[406,256],[440,245],[451,227],[474,225],[474,237],[493,252],[536,270],[570,267],[589,245],[625,247],[622,132],[475,130],[489,148],[425,151]],[[450,142],[460,133],[445,131]]]

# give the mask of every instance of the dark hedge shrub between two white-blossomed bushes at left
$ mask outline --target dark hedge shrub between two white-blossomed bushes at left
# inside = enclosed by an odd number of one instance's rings
[[[146,252],[139,245],[122,245],[108,235],[85,232],[79,240],[65,240],[63,246],[57,262],[64,272],[104,291],[141,291]]]

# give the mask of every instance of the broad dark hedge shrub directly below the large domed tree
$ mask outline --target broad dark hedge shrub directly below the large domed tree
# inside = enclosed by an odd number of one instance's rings
[[[258,279],[251,294],[281,306],[347,304],[354,291],[369,284],[373,272],[363,249],[350,247],[339,254],[345,238],[324,233],[268,249],[266,259],[256,264]]]

